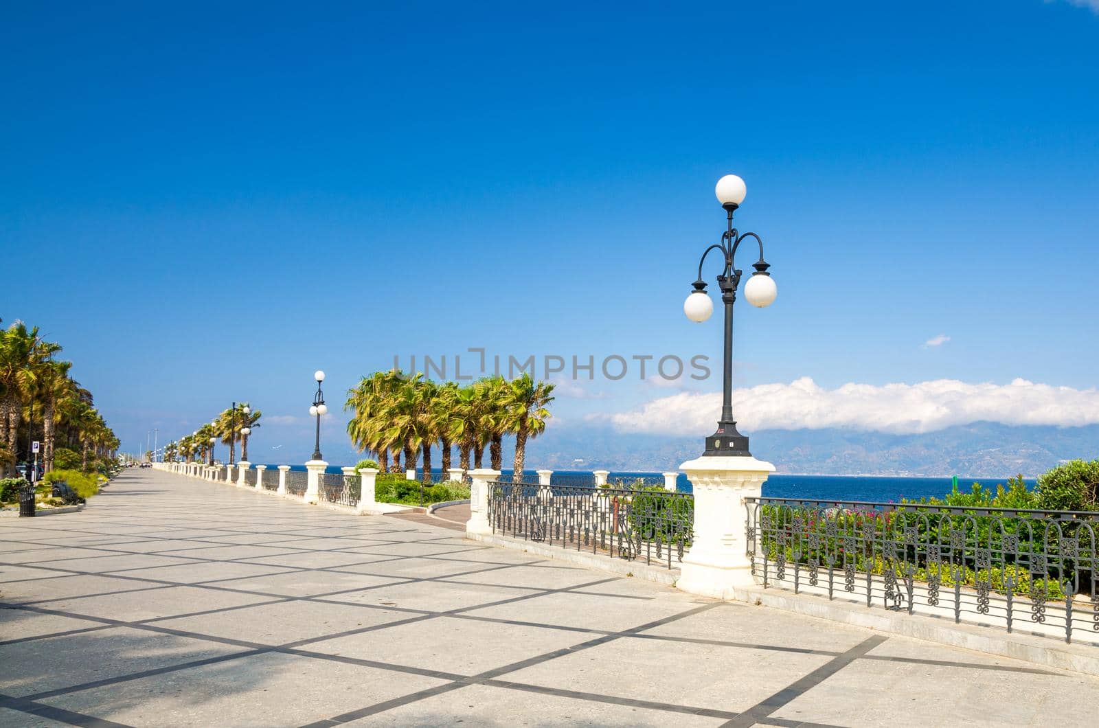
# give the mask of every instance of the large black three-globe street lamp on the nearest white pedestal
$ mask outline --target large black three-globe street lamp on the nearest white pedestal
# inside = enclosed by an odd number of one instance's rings
[[[695,290],[684,301],[684,313],[691,321],[701,323],[713,313],[713,301],[707,295],[706,283],[702,280],[702,264],[711,251],[721,251],[725,265],[718,276],[718,287],[721,289],[721,300],[725,305],[724,386],[721,420],[718,422],[718,431],[706,439],[704,455],[752,455],[748,452],[748,439],[736,431],[736,421],[733,419],[733,302],[736,300],[736,288],[741,284],[742,273],[733,264],[733,258],[745,239],[752,238],[758,244],[759,261],[752,264],[755,273],[744,284],[744,298],[753,306],[764,308],[770,306],[778,295],[775,280],[767,273],[770,266],[763,260],[763,241],[759,235],[754,232],[742,233],[733,227],[733,212],[744,201],[746,192],[744,180],[736,175],[725,175],[718,180],[714,194],[721,207],[725,208],[729,227],[721,233],[721,242],[710,245],[702,253],[702,258],[698,262],[698,280],[692,284]]]

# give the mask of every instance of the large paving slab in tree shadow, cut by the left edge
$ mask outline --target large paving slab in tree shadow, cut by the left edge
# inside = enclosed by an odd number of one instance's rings
[[[129,627],[0,644],[0,692],[14,696],[44,693],[241,651],[238,647]]]

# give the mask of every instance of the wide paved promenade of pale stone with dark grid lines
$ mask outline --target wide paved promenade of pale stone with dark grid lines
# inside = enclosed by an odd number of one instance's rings
[[[1099,681],[129,471],[0,520],[0,726],[1094,725]]]

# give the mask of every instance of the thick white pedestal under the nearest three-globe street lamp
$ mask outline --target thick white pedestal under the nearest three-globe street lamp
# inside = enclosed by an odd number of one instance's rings
[[[695,490],[695,527],[676,587],[719,599],[733,598],[735,589],[754,585],[744,499],[759,497],[775,466],[751,456],[703,455],[680,468]]]

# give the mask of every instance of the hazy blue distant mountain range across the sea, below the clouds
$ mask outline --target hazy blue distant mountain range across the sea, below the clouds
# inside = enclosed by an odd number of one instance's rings
[[[676,470],[702,438],[629,434],[602,427],[555,428],[528,444],[528,467]],[[779,473],[1034,477],[1067,460],[1099,457],[1099,424],[1077,428],[974,422],[923,434],[845,429],[748,432],[752,454]],[[579,461],[579,462],[578,462]]]

